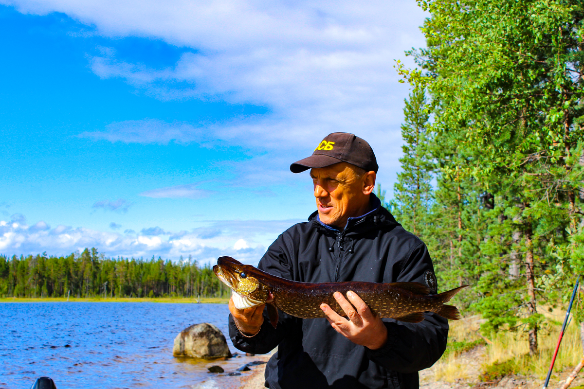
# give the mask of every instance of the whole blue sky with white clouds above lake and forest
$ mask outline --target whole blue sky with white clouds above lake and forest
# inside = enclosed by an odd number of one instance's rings
[[[257,264],[315,210],[309,156],[373,146],[391,195],[415,1],[0,0],[0,254]]]

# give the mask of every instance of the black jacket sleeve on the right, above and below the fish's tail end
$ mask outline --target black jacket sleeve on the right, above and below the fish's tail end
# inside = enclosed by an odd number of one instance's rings
[[[433,275],[432,260],[426,245],[420,243],[406,257],[396,281],[426,283],[427,271]],[[366,351],[369,359],[385,369],[398,373],[418,372],[432,366],[446,349],[448,320],[435,313],[426,313],[426,319],[420,323],[390,318],[383,321],[387,327],[387,342],[380,349],[366,348]]]

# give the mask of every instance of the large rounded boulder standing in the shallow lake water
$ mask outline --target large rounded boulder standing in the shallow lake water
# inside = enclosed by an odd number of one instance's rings
[[[193,324],[176,335],[172,354],[194,358],[231,358],[223,332],[209,323]]]

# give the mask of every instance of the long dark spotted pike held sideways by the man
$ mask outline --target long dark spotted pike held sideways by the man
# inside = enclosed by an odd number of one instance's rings
[[[320,309],[321,304],[325,303],[340,316],[346,317],[333,294],[340,292],[346,297],[349,290],[357,293],[371,313],[381,318],[420,323],[425,319],[425,312],[434,312],[449,320],[458,320],[460,312],[457,307],[444,303],[468,286],[430,295],[430,288],[419,282],[298,282],[244,265],[231,257],[218,258],[213,272],[232,290],[237,309],[266,304],[274,328],[278,323],[278,309],[304,319],[326,317]]]

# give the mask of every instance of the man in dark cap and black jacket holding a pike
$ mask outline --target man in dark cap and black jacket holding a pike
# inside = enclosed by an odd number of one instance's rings
[[[284,231],[259,269],[301,282],[420,282],[437,293],[426,245],[373,194],[378,165],[369,143],[329,134],[310,157],[290,165],[293,173],[308,169],[317,211]],[[326,318],[279,311],[275,329],[265,304],[239,310],[230,300],[231,340],[254,354],[278,347],[266,366],[268,388],[418,388],[418,371],[446,348],[448,321],[434,313],[415,324],[382,320],[355,293],[335,299],[347,318],[322,304]]]

